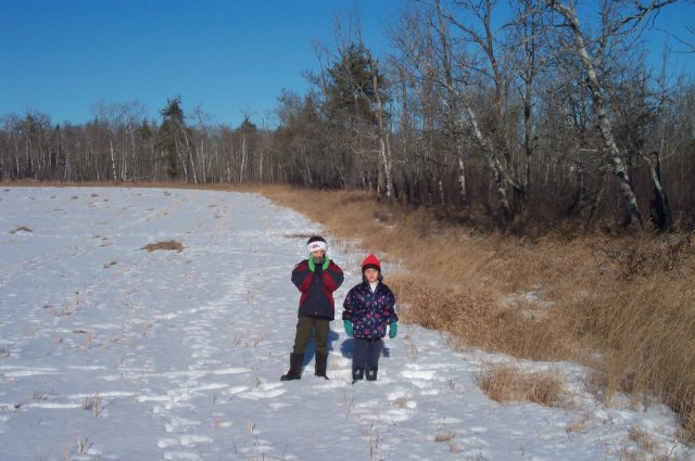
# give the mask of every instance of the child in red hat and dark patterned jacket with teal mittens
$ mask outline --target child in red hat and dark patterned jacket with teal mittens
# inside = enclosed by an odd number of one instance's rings
[[[394,338],[399,331],[395,296],[383,283],[381,264],[375,255],[362,262],[362,283],[353,286],[343,303],[343,325],[348,336],[355,338],[352,353],[353,384],[367,374],[367,381],[377,381],[379,356],[388,333]]]

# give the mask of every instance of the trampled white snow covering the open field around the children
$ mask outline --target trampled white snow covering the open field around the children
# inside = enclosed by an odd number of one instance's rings
[[[330,380],[314,376],[309,346],[302,380],[280,382],[299,299],[290,271],[321,231],[249,193],[0,190],[0,458],[693,459],[671,411],[602,405],[572,363],[514,361],[561,373],[565,407],[493,401],[476,374],[511,359],[452,350],[418,325],[384,341],[377,382],[351,383],[339,321]],[[365,255],[326,236],[345,271],[339,318]],[[169,240],[184,249],[142,249]]]

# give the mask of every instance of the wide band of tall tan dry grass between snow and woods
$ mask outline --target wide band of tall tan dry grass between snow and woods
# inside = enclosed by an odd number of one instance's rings
[[[365,192],[262,190],[331,235],[402,262],[405,271],[386,277],[404,321],[467,346],[590,366],[602,395],[656,398],[695,431],[695,247],[686,235],[548,232],[530,241]]]

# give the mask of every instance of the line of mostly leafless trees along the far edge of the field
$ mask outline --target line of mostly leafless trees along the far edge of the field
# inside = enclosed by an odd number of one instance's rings
[[[570,1],[414,1],[378,59],[337,20],[276,128],[213,125],[179,97],[159,119],[138,102],[83,125],[9,114],[0,178],[357,188],[473,225],[690,229],[695,86],[644,39],[674,2],[592,2],[582,22]]]

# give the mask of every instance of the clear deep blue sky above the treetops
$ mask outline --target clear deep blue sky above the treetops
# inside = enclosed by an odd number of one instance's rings
[[[274,125],[281,90],[308,88],[302,73],[318,66],[312,43],[332,43],[337,15],[358,14],[379,55],[389,47],[384,25],[402,3],[2,0],[0,116],[39,111],[54,124],[83,124],[96,103],[138,100],[159,119],[167,99],[180,95],[186,113],[200,105],[213,123],[237,127],[249,114]],[[681,33],[695,24],[692,3],[679,9],[662,12],[659,24]]]

